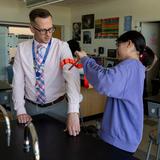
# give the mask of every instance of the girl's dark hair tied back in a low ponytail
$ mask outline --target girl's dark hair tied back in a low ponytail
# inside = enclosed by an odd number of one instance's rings
[[[139,59],[142,62],[142,64],[145,67],[150,66],[154,61],[155,54],[152,51],[152,49],[146,46],[144,36],[138,31],[128,31],[122,34],[117,39],[117,44],[127,42],[129,40],[132,41],[132,43],[135,45],[136,50],[139,51]]]

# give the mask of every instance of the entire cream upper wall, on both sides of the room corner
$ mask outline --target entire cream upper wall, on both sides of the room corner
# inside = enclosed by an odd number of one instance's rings
[[[81,16],[85,14],[95,14],[95,19],[120,17],[119,34],[124,32],[124,16],[133,16],[133,29],[139,25],[140,21],[160,21],[160,0],[106,0],[105,2],[97,0],[97,4],[82,4],[71,9],[54,5],[44,6],[44,8],[52,13],[54,24],[64,25],[65,40],[72,37],[71,22],[81,21]],[[29,22],[30,10],[25,7],[23,0],[0,0],[0,21]],[[85,45],[91,52],[99,46],[115,47],[114,39],[95,40],[94,29],[91,31],[93,43]]]

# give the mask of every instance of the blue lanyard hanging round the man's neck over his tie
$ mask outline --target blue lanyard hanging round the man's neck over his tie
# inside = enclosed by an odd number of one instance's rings
[[[40,64],[39,67],[38,67],[37,61],[36,61],[36,54],[35,54],[35,50],[34,50],[34,48],[35,48],[34,40],[32,42],[32,55],[33,55],[33,63],[34,63],[34,69],[35,69],[36,78],[39,78],[40,75],[41,75],[41,73],[38,71],[38,69],[40,69],[41,66],[43,66],[44,63],[46,62],[46,59],[47,59],[47,56],[48,56],[48,53],[49,53],[49,49],[50,49],[50,46],[51,46],[51,42],[52,42],[52,40],[50,40],[49,43],[48,43],[48,46],[47,46],[43,61]]]

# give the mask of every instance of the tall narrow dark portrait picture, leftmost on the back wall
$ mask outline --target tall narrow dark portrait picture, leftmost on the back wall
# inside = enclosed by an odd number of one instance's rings
[[[73,23],[73,32],[72,32],[72,38],[80,41],[81,40],[81,23]]]

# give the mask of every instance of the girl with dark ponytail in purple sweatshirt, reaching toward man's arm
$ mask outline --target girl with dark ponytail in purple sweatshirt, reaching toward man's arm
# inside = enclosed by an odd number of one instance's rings
[[[99,135],[110,160],[128,160],[142,139],[145,71],[153,67],[156,56],[137,31],[122,34],[116,42],[120,63],[112,68],[98,65],[84,51],[76,54],[89,83],[107,96]]]

